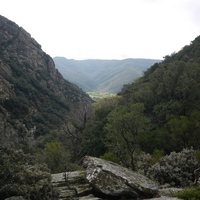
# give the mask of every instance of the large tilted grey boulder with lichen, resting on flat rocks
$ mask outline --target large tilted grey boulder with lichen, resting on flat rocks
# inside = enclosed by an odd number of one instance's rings
[[[113,162],[86,156],[86,179],[100,193],[121,197],[154,197],[156,182]]]

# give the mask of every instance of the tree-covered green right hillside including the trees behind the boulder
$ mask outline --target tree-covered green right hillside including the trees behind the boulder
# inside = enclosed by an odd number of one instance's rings
[[[134,152],[162,155],[200,144],[200,37],[152,65],[117,97],[95,104],[87,153],[136,168]],[[89,135],[88,135],[89,134]],[[93,138],[93,139],[91,139]],[[102,142],[103,141],[103,142]],[[109,156],[110,157],[110,156]],[[111,158],[110,157],[110,158]]]

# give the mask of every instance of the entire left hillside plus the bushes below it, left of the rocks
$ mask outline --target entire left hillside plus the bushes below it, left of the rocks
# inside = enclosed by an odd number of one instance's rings
[[[81,141],[68,137],[91,103],[29,33],[0,16],[0,199],[57,199],[50,169],[78,167]]]

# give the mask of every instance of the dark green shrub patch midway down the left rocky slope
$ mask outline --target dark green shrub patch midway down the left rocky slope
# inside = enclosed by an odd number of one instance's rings
[[[16,63],[10,61],[10,67],[14,73],[7,79],[13,85],[15,94],[2,102],[3,107],[14,119],[26,118],[27,127],[34,123],[38,126],[46,126],[46,129],[55,129],[61,125],[64,114],[69,109],[67,103],[60,100],[51,90],[40,85],[36,78],[20,69]],[[38,119],[39,117],[42,120]],[[40,134],[43,133],[37,131],[36,136]]]

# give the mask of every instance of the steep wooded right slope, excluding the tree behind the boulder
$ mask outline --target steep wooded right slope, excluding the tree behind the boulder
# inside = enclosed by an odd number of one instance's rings
[[[150,145],[143,144],[145,148],[167,153],[191,146],[199,149],[200,36],[154,64],[120,94],[124,104],[139,102],[145,106],[152,126],[152,132],[145,136]]]

